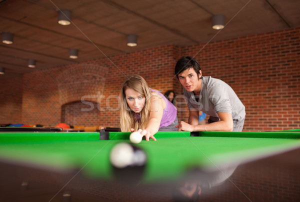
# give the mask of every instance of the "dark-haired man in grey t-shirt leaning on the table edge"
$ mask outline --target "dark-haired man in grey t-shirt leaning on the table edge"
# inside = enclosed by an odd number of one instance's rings
[[[202,76],[196,59],[181,57],[174,70],[183,86],[189,109],[188,123],[180,121],[178,131],[241,131],[245,107],[233,89],[224,81]],[[199,113],[209,115],[208,124],[199,125]]]

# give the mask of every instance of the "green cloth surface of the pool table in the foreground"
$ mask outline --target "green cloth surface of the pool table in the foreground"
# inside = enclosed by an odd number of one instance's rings
[[[0,132],[0,161],[73,177],[80,173],[91,181],[113,181],[110,151],[119,142],[129,142],[129,134]],[[157,132],[155,137],[157,141],[143,139],[136,145],[147,156],[141,184],[172,183],[190,170],[213,172],[224,164],[242,165],[300,148],[297,131]]]

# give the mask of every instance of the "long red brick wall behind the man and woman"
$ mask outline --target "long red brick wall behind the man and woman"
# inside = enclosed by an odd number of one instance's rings
[[[299,32],[300,27],[209,44],[161,46],[111,56],[112,62],[99,58],[26,73],[12,96],[9,88],[21,81],[0,81],[0,122],[56,125],[61,106],[83,98],[100,103],[99,125],[117,127],[116,97],[126,76],[138,73],[150,87],[161,92],[173,88],[180,95],[173,69],[180,56],[190,55],[199,60],[203,75],[220,78],[235,90],[246,107],[244,130],[299,128]],[[11,97],[22,101],[14,100],[11,107]],[[178,119],[186,121],[186,104],[178,100],[177,107]],[[14,117],[5,115],[10,113]]]

